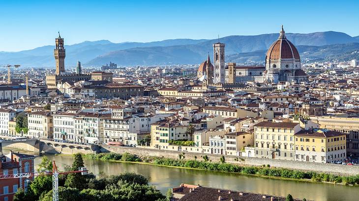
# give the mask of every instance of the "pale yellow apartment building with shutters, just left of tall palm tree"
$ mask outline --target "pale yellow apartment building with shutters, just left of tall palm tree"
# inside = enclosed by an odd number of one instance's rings
[[[187,126],[175,123],[157,122],[151,124],[151,147],[154,149],[168,149],[170,140],[190,140],[186,133]]]

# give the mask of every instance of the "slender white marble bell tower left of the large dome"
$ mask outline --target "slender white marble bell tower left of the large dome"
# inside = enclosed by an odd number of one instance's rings
[[[213,58],[214,58],[214,83],[224,83],[224,44],[213,44]]]

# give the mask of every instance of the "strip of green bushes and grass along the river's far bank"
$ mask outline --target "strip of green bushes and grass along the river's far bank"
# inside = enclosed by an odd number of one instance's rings
[[[221,159],[221,163],[210,162],[208,157],[206,161],[171,159],[164,157],[139,157],[130,153],[99,153],[84,154],[85,158],[106,160],[106,161],[123,161],[123,162],[139,162],[167,167],[179,167],[198,170],[221,171],[227,173],[239,173],[253,176],[264,176],[270,178],[283,178],[286,180],[308,180],[315,182],[331,182],[349,185],[359,184],[359,175],[356,176],[338,176],[327,173],[317,173],[313,171],[303,172],[299,170],[273,168],[268,166],[239,166],[225,162],[225,158]]]

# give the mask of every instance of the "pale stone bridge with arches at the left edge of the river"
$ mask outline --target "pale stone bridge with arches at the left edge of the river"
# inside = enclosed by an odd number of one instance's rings
[[[26,139],[16,136],[0,135],[0,139],[5,139],[0,142],[0,151],[2,147],[9,147],[13,149],[21,149],[33,151],[35,153],[94,153],[99,151],[98,145],[81,145],[65,142],[55,142],[45,139]]]

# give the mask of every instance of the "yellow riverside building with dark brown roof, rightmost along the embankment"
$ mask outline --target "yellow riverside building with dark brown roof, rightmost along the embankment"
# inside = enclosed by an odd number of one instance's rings
[[[346,134],[327,129],[301,130],[295,134],[298,161],[330,163],[346,159]]]

